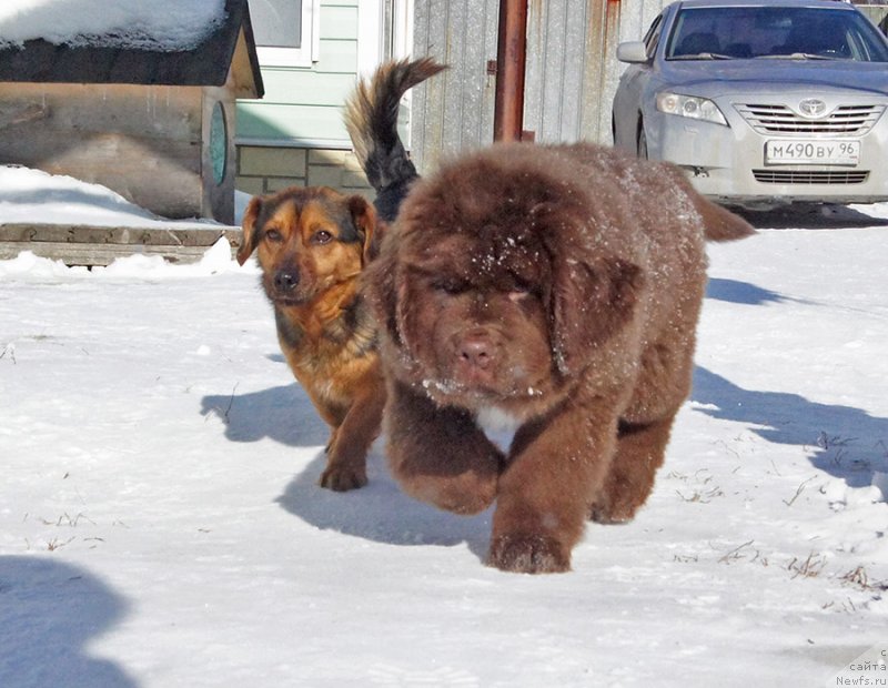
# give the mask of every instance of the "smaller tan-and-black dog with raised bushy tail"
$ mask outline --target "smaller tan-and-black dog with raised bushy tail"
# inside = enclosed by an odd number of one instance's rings
[[[376,325],[357,283],[380,230],[417,179],[397,135],[398,104],[442,69],[427,59],[386,63],[346,103],[355,153],[376,190],[375,210],[360,195],[292,186],[254,198],[244,213],[238,261],[256,253],[281,350],[331,426],[320,483],[334,490],[366,484],[366,453],[385,405]]]

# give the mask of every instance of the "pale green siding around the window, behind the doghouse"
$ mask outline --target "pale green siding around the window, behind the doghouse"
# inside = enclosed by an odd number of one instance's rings
[[[238,101],[236,138],[270,144],[347,146],[342,105],[357,72],[357,3],[321,4],[319,60],[311,68],[262,67],[265,97]]]

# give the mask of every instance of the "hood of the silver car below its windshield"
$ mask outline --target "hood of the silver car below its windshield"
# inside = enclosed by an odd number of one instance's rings
[[[694,60],[663,64],[659,88],[687,95],[719,98],[754,91],[764,94],[855,90],[888,95],[888,64],[850,60]]]

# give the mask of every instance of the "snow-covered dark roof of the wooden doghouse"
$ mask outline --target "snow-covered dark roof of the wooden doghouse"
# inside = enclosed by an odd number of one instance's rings
[[[241,31],[261,98],[248,0],[4,0],[0,81],[223,85]]]

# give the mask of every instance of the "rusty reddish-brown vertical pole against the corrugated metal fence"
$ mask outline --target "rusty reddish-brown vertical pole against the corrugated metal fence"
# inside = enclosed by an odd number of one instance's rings
[[[522,139],[526,48],[527,0],[500,0],[494,141]]]

